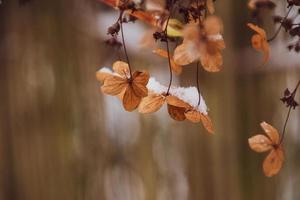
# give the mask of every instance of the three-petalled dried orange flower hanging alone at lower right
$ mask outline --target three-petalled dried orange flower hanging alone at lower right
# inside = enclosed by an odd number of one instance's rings
[[[258,153],[270,151],[263,162],[263,171],[267,177],[271,177],[276,175],[282,167],[284,161],[283,148],[278,131],[266,122],[262,122],[260,125],[267,136],[255,135],[249,138],[248,142],[250,148]]]

